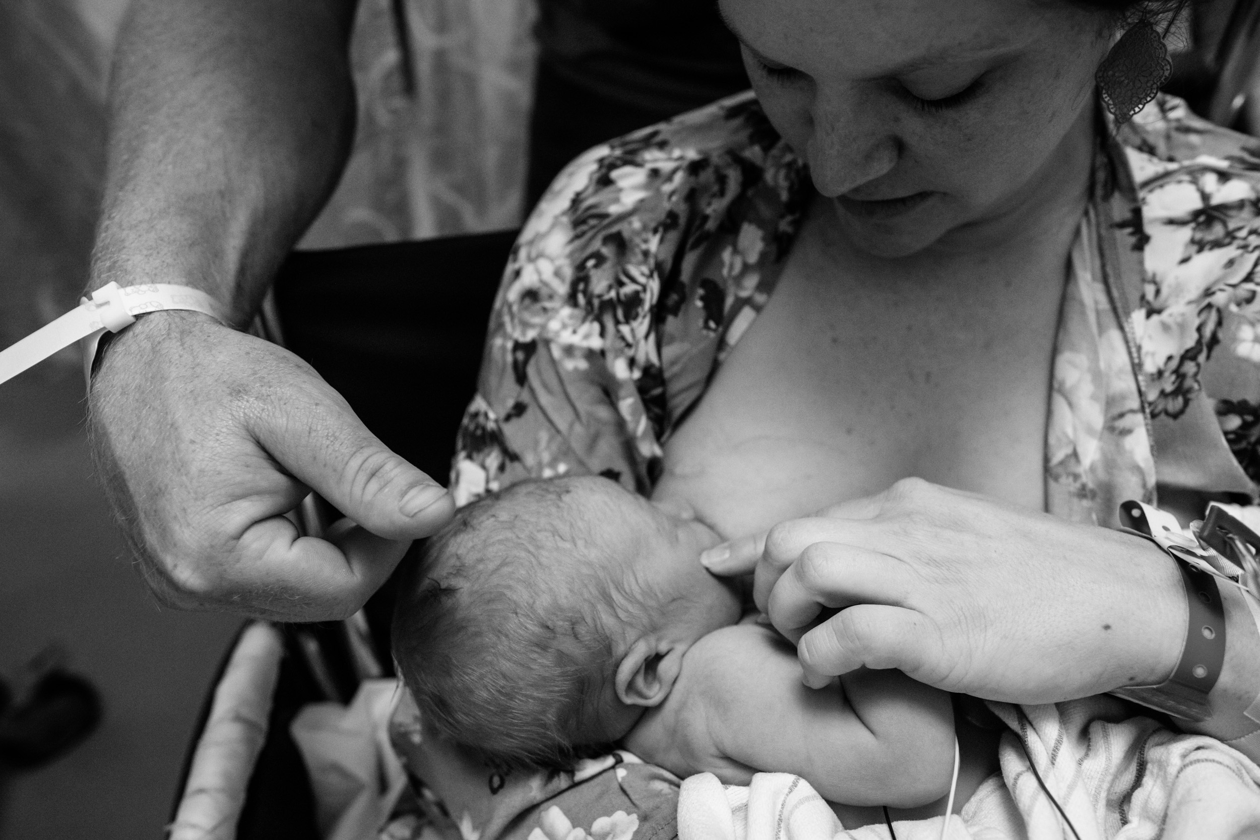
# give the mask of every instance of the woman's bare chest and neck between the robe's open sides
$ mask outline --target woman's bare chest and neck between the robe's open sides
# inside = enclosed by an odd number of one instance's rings
[[[789,264],[667,442],[656,492],[727,535],[908,476],[1041,509],[1065,268],[1043,273],[872,291]]]

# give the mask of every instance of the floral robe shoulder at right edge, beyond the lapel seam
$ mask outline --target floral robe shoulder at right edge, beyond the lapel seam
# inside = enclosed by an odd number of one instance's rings
[[[1149,127],[1126,150],[1142,200],[1131,233],[1143,288],[1131,319],[1144,397],[1157,428],[1215,416],[1234,472],[1247,479],[1227,489],[1242,491],[1260,481],[1260,150],[1179,99],[1157,99],[1148,112]]]

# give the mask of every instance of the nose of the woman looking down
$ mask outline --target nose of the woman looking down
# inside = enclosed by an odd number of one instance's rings
[[[811,117],[809,169],[823,195],[844,195],[897,165],[901,141],[869,99],[852,93],[819,96]]]

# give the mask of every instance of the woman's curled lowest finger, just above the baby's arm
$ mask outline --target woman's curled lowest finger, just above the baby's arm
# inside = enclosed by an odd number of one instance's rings
[[[796,656],[810,688],[859,667],[896,667],[922,679],[925,666],[942,659],[940,637],[922,615],[886,604],[842,610],[801,636]]]

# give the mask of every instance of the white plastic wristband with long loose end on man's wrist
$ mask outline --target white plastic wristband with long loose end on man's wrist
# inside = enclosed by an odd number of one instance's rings
[[[0,383],[35,366],[74,344],[84,341],[84,374],[91,382],[96,345],[106,332],[117,332],[136,322],[137,315],[161,310],[203,312],[223,321],[218,301],[198,288],[170,283],[127,286],[107,283],[84,297],[78,307],[26,338],[0,350]]]

